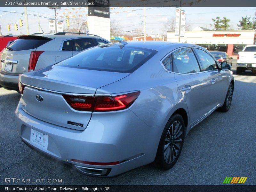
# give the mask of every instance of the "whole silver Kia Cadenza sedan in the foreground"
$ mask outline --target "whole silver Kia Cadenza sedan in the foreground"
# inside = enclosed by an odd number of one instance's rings
[[[19,88],[16,124],[28,146],[111,177],[151,162],[170,169],[189,130],[228,111],[234,77],[194,44],[120,42],[21,74]]]

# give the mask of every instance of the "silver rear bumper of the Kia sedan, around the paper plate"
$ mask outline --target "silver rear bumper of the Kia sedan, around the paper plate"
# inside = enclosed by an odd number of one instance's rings
[[[72,164],[84,174],[113,177],[155,159],[162,126],[148,127],[129,109],[121,112],[126,121],[120,121],[120,116],[113,112],[98,113],[80,131],[38,120],[20,105],[16,109],[16,126],[21,139],[31,148]],[[31,129],[48,135],[47,149],[30,141]]]

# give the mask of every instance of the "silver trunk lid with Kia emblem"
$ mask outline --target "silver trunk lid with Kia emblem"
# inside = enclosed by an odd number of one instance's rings
[[[129,74],[53,66],[20,75],[21,107],[29,115],[61,127],[84,130],[91,111],[71,108],[63,95],[94,97],[96,90]]]

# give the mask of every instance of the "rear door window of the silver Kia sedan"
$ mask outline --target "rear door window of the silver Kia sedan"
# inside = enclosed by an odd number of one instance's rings
[[[196,56],[191,48],[179,49],[172,53],[173,72],[176,73],[196,73],[200,72]]]

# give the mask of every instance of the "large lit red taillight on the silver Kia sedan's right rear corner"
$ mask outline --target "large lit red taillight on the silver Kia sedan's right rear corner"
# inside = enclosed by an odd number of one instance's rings
[[[78,111],[116,111],[130,107],[138,98],[140,91],[117,96],[73,96],[64,95],[64,99]]]

